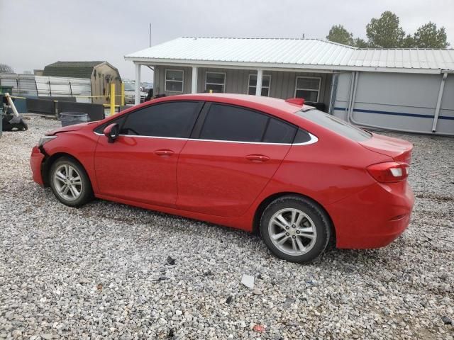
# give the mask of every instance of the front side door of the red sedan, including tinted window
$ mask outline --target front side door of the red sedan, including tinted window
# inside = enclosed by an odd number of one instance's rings
[[[202,105],[156,103],[121,118],[115,142],[101,136],[96,147],[94,164],[101,194],[175,208],[177,159]]]

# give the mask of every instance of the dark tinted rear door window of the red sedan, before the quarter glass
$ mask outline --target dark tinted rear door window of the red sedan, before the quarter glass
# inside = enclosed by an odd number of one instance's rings
[[[267,115],[244,108],[211,104],[200,138],[261,142],[268,119]]]

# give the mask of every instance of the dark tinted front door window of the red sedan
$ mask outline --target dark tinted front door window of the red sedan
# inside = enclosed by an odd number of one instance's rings
[[[189,137],[199,103],[173,102],[162,103],[128,114],[121,129],[121,135],[140,135],[156,137]]]

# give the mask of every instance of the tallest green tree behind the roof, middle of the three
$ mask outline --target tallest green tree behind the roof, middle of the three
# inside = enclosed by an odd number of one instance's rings
[[[370,47],[399,48],[404,40],[404,30],[399,26],[399,17],[386,11],[380,18],[372,18],[366,26]]]

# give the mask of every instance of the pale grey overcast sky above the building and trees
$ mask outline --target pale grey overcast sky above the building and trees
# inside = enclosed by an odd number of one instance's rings
[[[180,36],[324,39],[334,24],[365,38],[383,11],[406,33],[428,21],[445,26],[454,47],[453,0],[0,0],[0,63],[21,73],[57,60],[107,60],[133,79],[124,55]],[[143,70],[143,81],[152,73]]]

